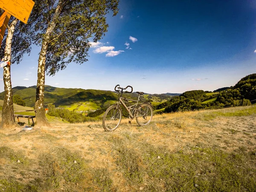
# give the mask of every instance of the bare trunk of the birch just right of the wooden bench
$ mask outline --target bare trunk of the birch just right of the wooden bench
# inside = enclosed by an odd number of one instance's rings
[[[37,126],[49,126],[47,122],[45,111],[44,111],[44,83],[45,83],[45,59],[47,54],[48,45],[50,43],[50,34],[53,32],[56,26],[56,20],[58,19],[62,9],[64,7],[63,0],[58,2],[57,8],[55,10],[52,22],[49,23],[45,37],[42,42],[42,47],[38,59],[38,81],[36,89],[36,100],[35,109],[38,111],[35,113]]]

